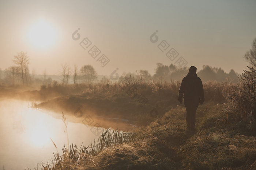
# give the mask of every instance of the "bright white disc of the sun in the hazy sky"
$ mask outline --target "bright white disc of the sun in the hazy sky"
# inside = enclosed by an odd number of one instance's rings
[[[39,20],[29,29],[29,41],[37,48],[49,48],[56,43],[56,29],[45,20]]]

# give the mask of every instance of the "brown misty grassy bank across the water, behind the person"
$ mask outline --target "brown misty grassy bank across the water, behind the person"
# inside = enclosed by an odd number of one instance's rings
[[[35,107],[73,115],[80,108],[83,114],[129,119],[144,126],[177,107],[179,86],[180,82],[145,83],[128,80],[113,84],[51,85],[36,94],[47,96],[55,91],[61,95]],[[229,83],[205,83],[206,102],[225,102],[225,95],[232,86],[234,85]],[[62,93],[66,88],[67,93]]]

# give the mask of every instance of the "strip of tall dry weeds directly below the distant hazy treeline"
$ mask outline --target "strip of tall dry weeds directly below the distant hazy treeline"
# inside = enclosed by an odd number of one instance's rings
[[[166,96],[178,95],[180,81],[153,81],[150,82],[140,79],[139,76],[125,76],[120,82],[107,82],[107,83],[81,83],[81,84],[61,84],[52,82],[47,85],[42,85],[39,91],[27,91],[30,98],[37,100],[48,100],[56,96],[74,95],[74,94],[100,94],[104,96],[109,95],[127,95],[127,90],[131,87],[138,89],[147,98],[150,96]],[[214,100],[217,102],[224,102],[226,94],[230,92],[231,86],[234,84],[228,82],[207,82],[204,83],[206,100]]]

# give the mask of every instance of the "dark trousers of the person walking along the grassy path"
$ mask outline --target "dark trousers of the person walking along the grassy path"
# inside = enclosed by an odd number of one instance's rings
[[[187,127],[189,130],[195,129],[196,109],[199,105],[199,100],[185,100],[184,104],[187,110]]]

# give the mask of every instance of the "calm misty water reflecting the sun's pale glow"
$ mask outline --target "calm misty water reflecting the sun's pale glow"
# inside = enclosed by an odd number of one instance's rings
[[[50,138],[60,154],[67,136],[61,114],[30,108],[28,102],[0,100],[0,166],[4,169],[23,169],[52,162],[56,153]],[[68,122],[69,143],[90,145],[98,136],[90,126]]]

